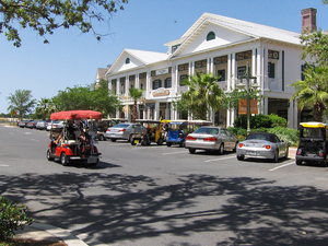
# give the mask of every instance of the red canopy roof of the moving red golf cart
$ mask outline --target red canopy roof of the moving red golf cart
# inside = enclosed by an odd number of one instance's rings
[[[102,113],[94,110],[57,112],[50,115],[50,119],[102,119]]]

